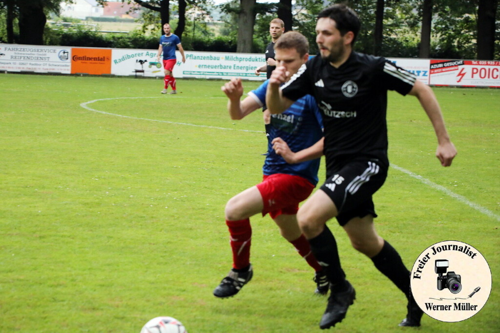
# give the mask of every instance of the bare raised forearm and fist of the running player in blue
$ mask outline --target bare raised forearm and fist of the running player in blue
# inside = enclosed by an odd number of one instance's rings
[[[245,117],[250,112],[256,110],[260,105],[250,96],[245,97],[240,101],[243,95],[243,85],[241,78],[231,78],[229,82],[224,83],[220,87],[229,99],[227,101],[227,110],[231,119],[239,120]]]

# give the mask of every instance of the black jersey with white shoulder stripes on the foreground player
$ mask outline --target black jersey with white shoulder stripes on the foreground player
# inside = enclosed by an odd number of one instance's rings
[[[383,57],[352,52],[338,68],[315,56],[281,87],[288,99],[311,94],[321,110],[327,169],[353,158],[388,166],[387,90],[405,95],[416,76]]]

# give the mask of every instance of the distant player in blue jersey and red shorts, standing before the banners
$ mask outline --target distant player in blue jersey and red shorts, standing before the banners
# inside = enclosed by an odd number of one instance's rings
[[[163,24],[163,32],[159,38],[159,46],[158,46],[158,55],[156,56],[156,60],[159,62],[159,57],[161,52],[163,52],[163,68],[165,69],[165,79],[164,79],[164,89],[161,90],[161,93],[166,93],[168,89],[168,85],[172,87],[172,91],[170,93],[177,93],[175,87],[175,78],[173,77],[173,66],[175,65],[175,61],[177,57],[175,56],[175,47],[179,48],[179,52],[182,55],[182,62],[186,61],[184,56],[184,49],[180,44],[180,39],[176,34],[173,34],[170,31],[170,24]]]

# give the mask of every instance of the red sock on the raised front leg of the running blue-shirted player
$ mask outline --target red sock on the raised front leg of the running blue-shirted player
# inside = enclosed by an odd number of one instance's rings
[[[226,220],[225,223],[229,228],[230,234],[229,243],[232,249],[232,267],[235,269],[245,268],[250,264],[250,219],[246,218],[238,221]]]

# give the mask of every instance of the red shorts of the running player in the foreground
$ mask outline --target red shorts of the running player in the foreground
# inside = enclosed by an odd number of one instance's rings
[[[269,213],[271,218],[281,214],[296,214],[298,204],[314,189],[309,180],[297,175],[264,174],[262,179],[262,182],[256,185],[264,202],[262,216]]]

